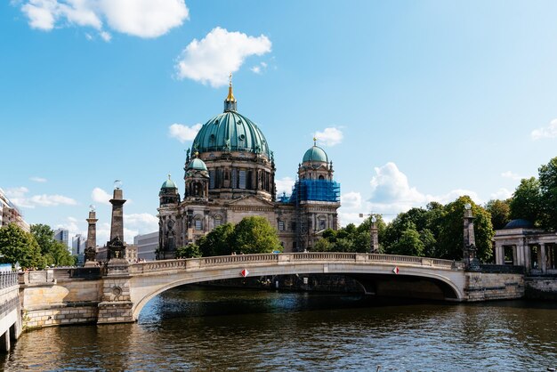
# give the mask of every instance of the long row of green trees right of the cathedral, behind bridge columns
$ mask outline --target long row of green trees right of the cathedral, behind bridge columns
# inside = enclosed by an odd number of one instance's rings
[[[538,169],[538,177],[521,180],[512,198],[489,200],[484,206],[464,196],[452,203],[430,203],[398,214],[390,223],[377,215],[380,252],[390,255],[416,255],[460,260],[463,254],[464,205],[472,205],[477,255],[492,261],[494,230],[506,223],[525,219],[545,230],[557,230],[557,158]],[[326,230],[311,248],[320,252],[368,252],[370,221],[349,224],[341,230]]]

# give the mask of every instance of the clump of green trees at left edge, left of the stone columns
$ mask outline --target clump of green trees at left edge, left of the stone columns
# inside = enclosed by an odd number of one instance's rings
[[[77,257],[68,247],[54,239],[54,231],[44,224],[31,225],[30,232],[14,223],[0,228],[0,263],[11,263],[22,269],[44,269],[46,266],[73,266]]]

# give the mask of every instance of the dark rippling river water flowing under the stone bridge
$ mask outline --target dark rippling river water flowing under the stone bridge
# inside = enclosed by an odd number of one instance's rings
[[[186,286],[137,323],[36,330],[1,358],[5,371],[545,371],[557,367],[557,303]]]

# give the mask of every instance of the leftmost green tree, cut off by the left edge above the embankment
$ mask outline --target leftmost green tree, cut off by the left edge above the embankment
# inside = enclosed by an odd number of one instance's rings
[[[1,263],[20,263],[21,268],[44,269],[46,262],[33,235],[14,223],[0,228]]]

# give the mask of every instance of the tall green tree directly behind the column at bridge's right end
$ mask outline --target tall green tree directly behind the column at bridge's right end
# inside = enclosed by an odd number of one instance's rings
[[[448,260],[461,260],[463,258],[463,218],[466,203],[472,205],[477,256],[480,261],[489,262],[493,255],[491,239],[494,235],[491,216],[483,207],[474,204],[468,196],[457,198],[454,202],[445,206],[445,216],[438,237],[439,251],[437,256]]]

